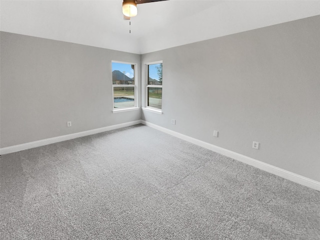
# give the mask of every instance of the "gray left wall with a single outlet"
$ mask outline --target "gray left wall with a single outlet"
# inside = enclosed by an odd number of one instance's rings
[[[139,54],[8,32],[0,37],[0,147],[140,119],[140,110],[112,113],[111,85],[111,60],[139,69]]]

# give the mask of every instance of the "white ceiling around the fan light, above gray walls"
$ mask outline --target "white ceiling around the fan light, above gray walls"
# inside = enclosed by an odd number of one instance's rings
[[[122,0],[1,0],[0,30],[146,53],[320,14],[319,0],[167,0],[138,4],[123,20]]]

